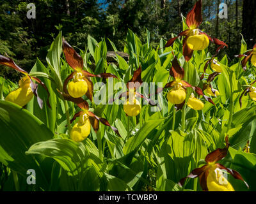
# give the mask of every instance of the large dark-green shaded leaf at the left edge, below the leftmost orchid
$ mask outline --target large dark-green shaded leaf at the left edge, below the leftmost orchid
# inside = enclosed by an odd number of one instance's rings
[[[47,186],[44,173],[38,166],[40,160],[25,152],[36,142],[50,140],[53,133],[34,115],[7,101],[0,101],[0,161],[28,177],[27,170],[36,171],[36,184]]]

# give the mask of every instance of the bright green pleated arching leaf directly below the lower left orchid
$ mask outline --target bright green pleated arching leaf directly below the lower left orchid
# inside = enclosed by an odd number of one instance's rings
[[[88,138],[86,141],[89,140]],[[69,139],[53,139],[45,142],[38,142],[31,146],[26,154],[40,154],[55,159],[68,175],[78,175],[86,170],[86,167],[93,166],[99,175],[103,170],[99,157],[93,154],[92,143],[77,143]]]

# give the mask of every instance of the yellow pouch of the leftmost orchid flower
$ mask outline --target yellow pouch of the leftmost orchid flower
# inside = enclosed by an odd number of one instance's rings
[[[5,101],[16,103],[19,106],[26,105],[33,98],[33,91],[30,87],[30,78],[28,76],[23,77],[19,81],[19,89],[10,92],[6,96]]]

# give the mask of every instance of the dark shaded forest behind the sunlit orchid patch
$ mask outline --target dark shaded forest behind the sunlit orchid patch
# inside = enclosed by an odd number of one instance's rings
[[[147,29],[157,47],[159,40],[182,31],[181,17],[186,17],[196,1],[192,0],[1,0],[0,54],[8,54],[22,68],[30,70],[38,57],[44,62],[52,40],[60,31],[72,46],[84,50],[88,35],[97,41],[109,38],[122,51],[128,29],[145,41]],[[28,19],[27,4],[35,3],[36,18]],[[219,4],[228,5],[228,18],[218,18]],[[241,34],[248,48],[255,43],[256,1],[203,0],[200,29],[225,41],[223,52],[230,61],[239,54]],[[214,45],[212,45],[214,52]],[[111,50],[109,45],[108,50]],[[14,78],[3,66],[1,75]]]

